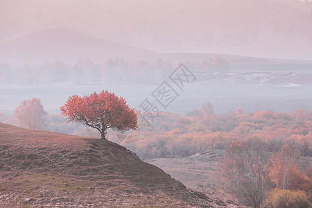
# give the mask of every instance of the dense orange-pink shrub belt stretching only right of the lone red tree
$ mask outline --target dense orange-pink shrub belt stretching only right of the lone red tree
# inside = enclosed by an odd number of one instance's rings
[[[266,144],[265,150],[270,153],[278,152],[289,143],[297,145],[301,156],[312,156],[312,111],[250,113],[241,107],[238,109],[236,113],[214,114],[208,103],[186,116],[161,113],[153,125],[139,124],[141,138],[131,145],[124,145],[138,150],[137,155],[141,158],[153,158],[154,155],[185,157],[207,149],[225,150],[237,139],[261,137]],[[173,134],[177,129],[180,135]],[[182,137],[189,138],[185,144],[181,142]],[[155,142],[157,138],[162,138],[164,150]],[[153,149],[153,155],[144,148]]]

